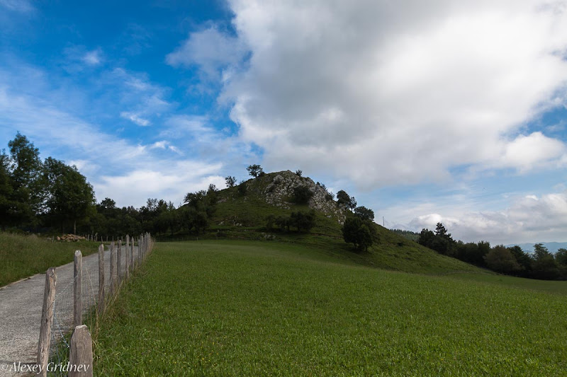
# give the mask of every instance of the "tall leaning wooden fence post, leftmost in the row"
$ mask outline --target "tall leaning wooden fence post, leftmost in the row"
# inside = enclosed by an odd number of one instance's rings
[[[55,283],[57,273],[55,268],[47,269],[45,273],[45,291],[43,292],[43,308],[41,310],[40,340],[38,342],[38,366],[40,374],[47,376],[47,362],[49,361],[49,345],[51,338],[51,325],[53,323],[53,302],[55,301]]]

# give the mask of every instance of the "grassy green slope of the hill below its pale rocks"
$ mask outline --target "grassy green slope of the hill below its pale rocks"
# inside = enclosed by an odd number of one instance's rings
[[[439,255],[378,224],[376,224],[378,243],[375,243],[367,253],[356,253],[352,245],[342,239],[338,219],[335,216],[327,217],[321,212],[317,212],[317,225],[308,234],[266,231],[266,219],[270,215],[288,216],[292,211],[309,210],[306,205],[300,206],[289,202],[287,203],[289,209],[266,203],[264,190],[278,174],[269,173],[248,180],[246,195],[240,195],[237,187],[220,190],[209,232],[199,238],[266,240],[270,235],[275,236],[279,242],[318,248],[339,259],[351,260],[371,267],[424,274],[456,271],[491,273],[455,258]],[[289,200],[291,201],[291,198]]]

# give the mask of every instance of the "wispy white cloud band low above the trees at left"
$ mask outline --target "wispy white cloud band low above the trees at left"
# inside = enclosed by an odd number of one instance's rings
[[[168,141],[150,146],[133,145],[126,139],[101,131],[99,127],[50,103],[28,95],[13,95],[0,86],[0,127],[9,139],[20,130],[38,146],[43,156],[57,149],[57,158],[71,156],[94,186],[97,199],[112,197],[118,205],[141,206],[147,197],[159,197],[179,204],[189,191],[220,186],[223,164],[179,160],[157,156],[160,149],[179,151]],[[9,125],[9,127],[8,127]],[[9,134],[13,132],[13,134]]]

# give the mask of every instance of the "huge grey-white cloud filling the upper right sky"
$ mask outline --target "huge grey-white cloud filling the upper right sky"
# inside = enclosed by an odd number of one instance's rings
[[[526,173],[567,161],[558,139],[515,136],[567,103],[567,1],[553,4],[233,0],[237,41],[209,28],[168,61],[214,67],[230,60],[218,41],[249,48],[220,101],[274,170],[324,170],[363,189],[444,180],[457,166]]]

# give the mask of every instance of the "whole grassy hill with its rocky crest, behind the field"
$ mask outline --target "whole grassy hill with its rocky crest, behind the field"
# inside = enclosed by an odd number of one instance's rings
[[[366,253],[357,253],[344,242],[341,224],[346,216],[354,216],[326,197],[326,190],[310,178],[299,177],[291,171],[267,173],[242,183],[239,187],[218,192],[218,204],[210,221],[208,233],[199,238],[228,238],[244,240],[275,240],[283,243],[319,248],[341,260],[357,264],[405,272],[443,274],[456,271],[489,273],[465,262],[424,248],[393,231],[375,224],[378,242]],[[293,187],[305,185],[315,195],[308,205],[293,203]],[[266,230],[269,216],[288,216],[292,211],[315,209],[316,226],[310,233]]]

